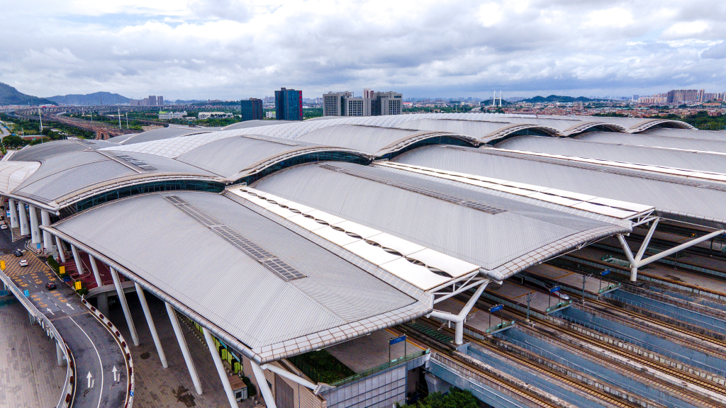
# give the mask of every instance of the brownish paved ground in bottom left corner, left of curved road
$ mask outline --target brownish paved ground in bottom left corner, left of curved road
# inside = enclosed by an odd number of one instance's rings
[[[15,298],[7,299],[0,300],[0,408],[55,407],[66,371],[57,364],[55,342],[30,325]]]

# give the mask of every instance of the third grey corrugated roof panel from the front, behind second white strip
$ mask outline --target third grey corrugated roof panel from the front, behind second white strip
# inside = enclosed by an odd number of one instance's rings
[[[558,163],[557,160],[533,160],[513,153],[497,154],[492,149],[467,147],[422,147],[407,152],[394,161],[653,205],[657,211],[691,214],[698,219],[716,219],[717,222],[726,224],[726,207],[722,205],[726,199],[725,192],[679,184],[683,180],[677,178],[672,178],[672,183],[643,179],[624,175],[629,171],[621,170],[621,174],[615,174],[599,171],[596,166],[589,170]],[[668,176],[659,177],[663,180],[671,179]],[[708,182],[693,184],[716,185]]]

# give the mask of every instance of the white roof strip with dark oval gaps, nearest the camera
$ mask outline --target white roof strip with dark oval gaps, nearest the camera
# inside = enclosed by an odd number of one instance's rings
[[[293,201],[286,200],[277,208],[264,205],[259,197],[274,196],[257,189],[237,187],[227,191],[294,222],[423,290],[479,269],[475,264]],[[400,260],[406,263],[401,264]]]

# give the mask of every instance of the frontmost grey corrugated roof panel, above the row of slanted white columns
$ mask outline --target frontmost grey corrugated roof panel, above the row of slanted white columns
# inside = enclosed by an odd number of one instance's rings
[[[226,197],[192,192],[174,195],[308,277],[281,280],[161,195],[102,205],[55,227],[122,264],[250,348],[415,303],[367,272]]]

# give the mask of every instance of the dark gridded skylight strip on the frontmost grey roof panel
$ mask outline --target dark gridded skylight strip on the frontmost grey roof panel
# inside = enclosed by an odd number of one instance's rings
[[[285,282],[307,277],[305,274],[298,271],[298,269],[295,269],[295,267],[287,264],[285,261],[282,261],[282,259],[277,258],[274,254],[270,253],[265,248],[262,248],[260,245],[257,245],[255,242],[249,240],[247,237],[230,228],[226,224],[222,224],[217,221],[213,216],[209,215],[205,211],[202,211],[200,208],[197,208],[195,205],[187,203],[187,201],[181,197],[177,195],[168,195],[165,196],[164,199],[169,203],[174,204],[176,208],[179,208],[181,211],[187,213],[188,216],[191,216],[201,224],[204,224],[205,227],[211,229],[213,232],[227,240],[239,250],[242,250],[242,252],[246,253],[251,258],[254,258],[267,269],[274,272],[274,274],[277,274],[277,276],[282,278],[282,280],[285,280]]]

